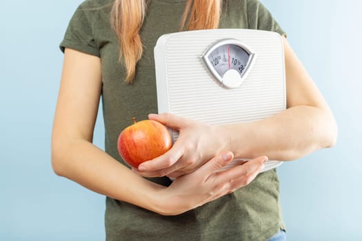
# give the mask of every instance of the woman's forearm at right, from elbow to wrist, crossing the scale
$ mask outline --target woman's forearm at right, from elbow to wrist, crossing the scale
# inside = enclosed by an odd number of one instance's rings
[[[236,157],[265,155],[295,160],[336,142],[336,123],[329,109],[300,105],[260,121],[225,125]]]

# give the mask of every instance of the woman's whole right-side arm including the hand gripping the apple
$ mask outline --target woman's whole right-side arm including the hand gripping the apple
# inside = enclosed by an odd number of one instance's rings
[[[287,109],[261,121],[210,126],[172,114],[150,115],[179,130],[174,147],[140,165],[143,176],[190,173],[224,150],[239,158],[265,155],[272,160],[294,160],[336,142],[332,112],[318,88],[283,37]],[[177,171],[177,172],[175,172]]]

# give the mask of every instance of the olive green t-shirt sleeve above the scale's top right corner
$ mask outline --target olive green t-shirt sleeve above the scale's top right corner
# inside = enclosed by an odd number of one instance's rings
[[[282,36],[287,35],[259,0],[248,0],[248,23],[251,29],[278,32]]]

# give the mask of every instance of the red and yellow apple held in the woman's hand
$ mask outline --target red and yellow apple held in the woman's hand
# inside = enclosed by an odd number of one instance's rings
[[[172,147],[172,138],[168,129],[157,121],[136,122],[123,129],[119,134],[117,147],[119,155],[131,167],[146,160],[161,156]]]

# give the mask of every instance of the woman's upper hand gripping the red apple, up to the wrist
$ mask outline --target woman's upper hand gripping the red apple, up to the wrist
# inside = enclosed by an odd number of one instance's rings
[[[174,114],[150,114],[159,121],[179,131],[179,138],[162,156],[139,165],[134,170],[141,176],[178,177],[189,174],[222,151],[227,150],[228,136],[218,126],[208,125]]]

